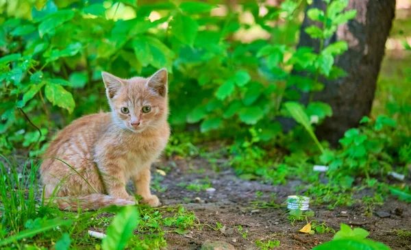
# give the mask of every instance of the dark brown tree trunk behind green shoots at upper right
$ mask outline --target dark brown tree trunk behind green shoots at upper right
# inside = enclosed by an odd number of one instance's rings
[[[315,0],[308,8],[313,7],[325,10],[322,0]],[[347,10],[351,9],[357,10],[356,18],[340,25],[336,34],[325,41],[325,46],[337,40],[348,43],[348,51],[338,56],[334,63],[343,68],[347,76],[335,80],[320,79],[325,88],[313,96],[314,101],[331,105],[333,116],[325,119],[316,134],[334,146],[345,131],[357,127],[360,119],[371,112],[385,43],[395,16],[395,0],[350,0]],[[298,46],[313,47],[318,51],[319,39],[312,39],[304,32],[310,25],[312,21],[306,16]],[[307,103],[308,96],[304,95],[301,101]]]

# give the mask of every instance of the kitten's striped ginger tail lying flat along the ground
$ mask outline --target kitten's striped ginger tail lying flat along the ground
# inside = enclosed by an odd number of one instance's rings
[[[92,194],[83,197],[57,197],[55,203],[60,210],[77,211],[99,210],[110,205],[135,205],[136,202],[127,199],[115,198],[110,195]]]

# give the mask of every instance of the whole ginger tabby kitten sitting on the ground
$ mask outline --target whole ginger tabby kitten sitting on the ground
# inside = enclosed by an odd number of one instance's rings
[[[150,166],[170,136],[167,71],[149,78],[102,76],[112,112],[78,118],[51,142],[40,166],[45,198],[56,197],[68,210],[132,205],[125,190],[132,179],[142,202],[158,206]]]

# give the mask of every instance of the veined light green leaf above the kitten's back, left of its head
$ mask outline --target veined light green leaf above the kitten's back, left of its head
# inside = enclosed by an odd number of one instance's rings
[[[45,89],[46,97],[49,99],[53,105],[58,105],[60,108],[65,108],[69,110],[71,114],[75,107],[75,102],[71,92],[65,90],[62,86],[58,84],[47,83]]]

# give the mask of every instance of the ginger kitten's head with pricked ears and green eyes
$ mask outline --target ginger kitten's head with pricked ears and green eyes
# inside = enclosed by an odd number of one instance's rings
[[[168,103],[165,68],[149,78],[121,79],[106,72],[101,75],[115,123],[132,132],[142,132],[166,121]]]

